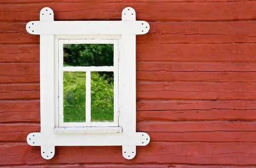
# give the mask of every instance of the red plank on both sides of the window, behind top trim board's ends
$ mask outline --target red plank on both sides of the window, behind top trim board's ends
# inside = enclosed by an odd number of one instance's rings
[[[149,22],[149,25],[150,30],[148,34],[137,36],[137,44],[222,44],[256,42],[255,21]],[[0,34],[0,44],[39,44],[39,36],[28,34],[25,26],[26,24],[24,23],[0,23],[2,32],[2,34]]]

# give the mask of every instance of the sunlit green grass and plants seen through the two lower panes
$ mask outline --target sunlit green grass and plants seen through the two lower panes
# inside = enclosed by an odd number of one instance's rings
[[[85,81],[85,72],[64,72],[64,122],[85,122]],[[113,78],[104,73],[91,72],[91,121],[113,122]]]

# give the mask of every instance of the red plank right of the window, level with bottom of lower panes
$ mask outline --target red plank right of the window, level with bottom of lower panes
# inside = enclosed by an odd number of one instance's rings
[[[207,103],[205,104],[207,106]],[[140,106],[140,104],[138,105]],[[153,105],[152,105],[153,106]],[[218,109],[218,106],[212,109],[170,109],[158,110],[148,109],[137,111],[137,121],[202,121],[202,120],[228,120],[228,121],[252,121],[256,120],[256,109],[228,109],[228,105]],[[239,107],[239,102],[237,104]]]

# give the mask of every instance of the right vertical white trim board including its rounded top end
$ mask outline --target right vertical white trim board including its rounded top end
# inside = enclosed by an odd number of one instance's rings
[[[128,10],[129,9],[129,10]],[[135,20],[130,7],[122,11],[122,20]],[[119,56],[119,125],[123,132],[136,132],[136,36],[122,34]]]

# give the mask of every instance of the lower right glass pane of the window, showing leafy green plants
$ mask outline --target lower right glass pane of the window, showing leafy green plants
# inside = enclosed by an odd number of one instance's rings
[[[113,72],[91,72],[91,121],[113,122]]]

